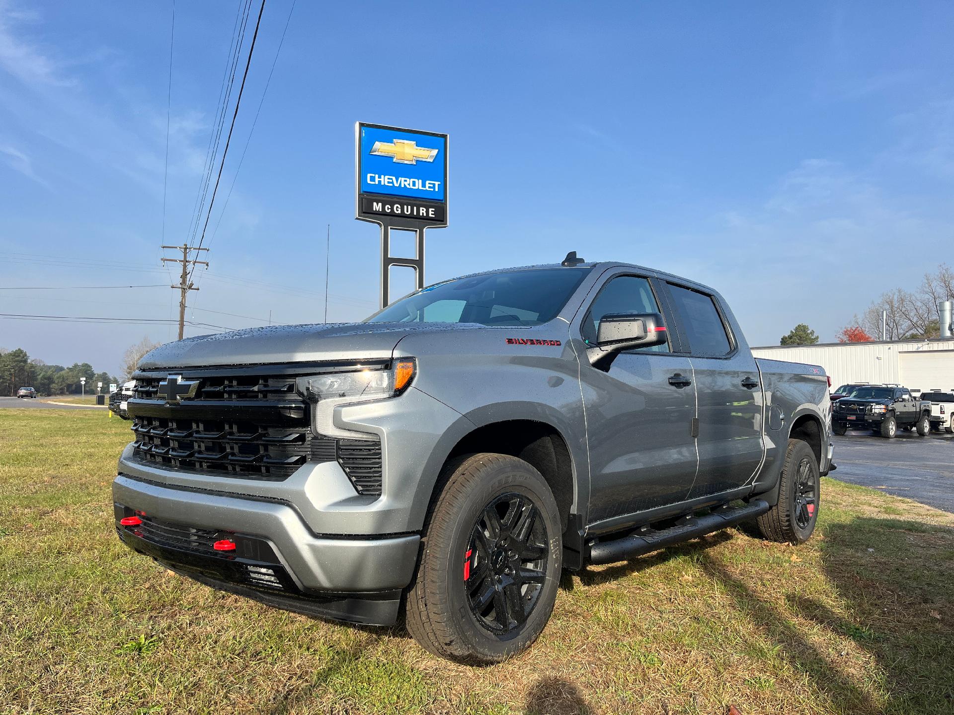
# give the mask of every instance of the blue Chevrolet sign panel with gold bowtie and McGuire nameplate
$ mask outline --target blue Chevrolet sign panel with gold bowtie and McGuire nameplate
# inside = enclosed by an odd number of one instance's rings
[[[447,135],[358,124],[358,217],[446,224]]]

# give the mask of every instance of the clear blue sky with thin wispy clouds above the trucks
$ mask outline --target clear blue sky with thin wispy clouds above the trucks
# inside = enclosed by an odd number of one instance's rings
[[[165,243],[188,235],[237,7],[176,4]],[[950,3],[301,0],[221,213],[289,10],[266,3],[196,322],[320,321],[328,224],[329,320],[373,312],[356,120],[450,134],[428,282],[576,250],[708,283],[775,344],[797,322],[833,339],[952,260]],[[171,282],[171,20],[163,0],[0,0],[0,287]],[[0,313],[168,318],[176,296],[8,290]],[[96,369],[145,335],[175,332],[0,320],[0,346]]]

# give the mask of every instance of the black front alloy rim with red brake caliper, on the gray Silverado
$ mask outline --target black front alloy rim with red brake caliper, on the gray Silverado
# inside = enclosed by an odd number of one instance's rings
[[[484,507],[464,554],[470,613],[498,636],[526,623],[547,578],[547,525],[523,494],[502,494]]]

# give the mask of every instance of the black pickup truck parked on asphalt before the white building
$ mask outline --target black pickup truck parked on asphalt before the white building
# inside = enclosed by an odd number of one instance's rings
[[[867,385],[832,405],[832,431],[843,435],[848,428],[869,429],[894,439],[898,430],[917,429],[926,437],[931,431],[931,403],[916,399],[906,387]]]

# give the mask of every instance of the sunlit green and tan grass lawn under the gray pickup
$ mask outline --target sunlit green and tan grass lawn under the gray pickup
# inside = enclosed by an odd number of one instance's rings
[[[129,422],[0,411],[0,713],[942,713],[954,515],[824,480],[802,547],[730,530],[564,578],[506,664],[179,578],[116,539]]]

